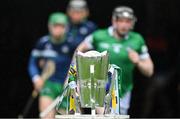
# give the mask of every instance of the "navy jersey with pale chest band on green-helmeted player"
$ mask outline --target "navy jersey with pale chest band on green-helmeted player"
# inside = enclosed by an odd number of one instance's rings
[[[53,60],[56,65],[55,73],[48,79],[53,82],[64,83],[67,71],[69,69],[71,58],[76,46],[74,40],[67,38],[59,44],[54,44],[50,40],[50,36],[44,36],[37,42],[35,48],[31,52],[28,71],[32,80],[41,74],[39,68],[40,60]]]

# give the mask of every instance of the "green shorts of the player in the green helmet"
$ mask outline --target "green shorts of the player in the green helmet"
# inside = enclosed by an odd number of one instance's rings
[[[40,92],[40,96],[49,97],[51,99],[56,99],[57,96],[61,95],[63,92],[63,84],[56,83],[47,80]],[[67,107],[67,97],[65,97],[59,108],[66,109]]]

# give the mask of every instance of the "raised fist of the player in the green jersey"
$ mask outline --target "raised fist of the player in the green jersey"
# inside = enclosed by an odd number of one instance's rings
[[[133,64],[138,64],[139,63],[140,57],[139,57],[139,54],[135,50],[129,49],[128,50],[128,56],[129,56],[129,59],[131,60],[131,62]]]

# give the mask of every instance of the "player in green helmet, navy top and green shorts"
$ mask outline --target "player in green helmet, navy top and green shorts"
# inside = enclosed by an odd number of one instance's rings
[[[45,110],[53,100],[62,93],[64,80],[71,62],[74,49],[74,41],[68,40],[68,19],[63,13],[53,13],[49,17],[49,35],[43,36],[32,50],[29,61],[29,73],[34,88],[40,92],[39,110]],[[46,81],[42,80],[41,70],[47,60],[55,63],[55,73]],[[61,112],[64,113],[67,105],[63,101]],[[53,118],[55,111],[47,117]]]

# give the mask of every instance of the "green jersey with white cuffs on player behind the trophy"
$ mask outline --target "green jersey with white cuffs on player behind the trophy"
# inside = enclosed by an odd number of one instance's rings
[[[120,97],[123,97],[128,91],[133,88],[133,69],[135,65],[128,57],[128,48],[131,48],[139,53],[141,59],[149,58],[147,47],[143,37],[136,32],[129,32],[123,39],[117,39],[113,36],[113,28],[98,30],[88,36],[85,41],[89,48],[102,52],[109,52],[111,64],[115,64],[122,69],[122,78],[119,78],[121,83]],[[120,73],[120,72],[119,72]]]

